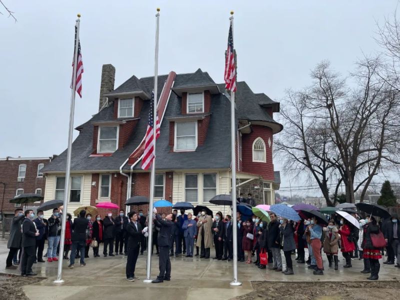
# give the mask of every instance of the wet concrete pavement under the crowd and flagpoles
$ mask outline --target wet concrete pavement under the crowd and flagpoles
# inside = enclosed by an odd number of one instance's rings
[[[7,254],[6,241],[0,241],[0,272],[19,274],[17,270],[5,269],[5,258]],[[211,253],[213,249],[211,249]],[[101,253],[101,251],[100,251]],[[307,264],[293,263],[294,275],[283,275],[281,272],[261,270],[252,264],[238,263],[238,279],[243,283],[241,286],[231,286],[232,262],[217,261],[213,259],[171,257],[172,274],[171,281],[151,284],[144,283],[146,252],[139,255],[136,264],[135,275],[140,280],[129,282],[125,280],[126,256],[114,257],[92,257],[85,259],[84,267],[79,267],[78,260],[75,267],[68,269],[68,261],[63,261],[62,284],[54,284],[52,281],[57,274],[56,262],[44,262],[34,264],[34,270],[39,276],[47,277],[40,282],[24,286],[26,295],[31,300],[42,300],[43,298],[74,300],[87,299],[88,297],[99,297],[100,299],[112,298],[128,299],[132,295],[144,299],[206,299],[207,297],[218,297],[218,299],[230,299],[252,291],[251,280],[267,281],[361,281],[367,275],[360,273],[362,260],[352,260],[352,268],[343,269],[341,255],[339,256],[339,270],[327,266],[326,256],[323,254],[325,271],[323,276],[315,276],[308,269]],[[283,253],[282,253],[283,257]],[[292,256],[294,258],[294,255]],[[284,261],[284,258],[283,258]],[[151,261],[151,277],[155,278],[158,273],[158,256],[153,255]],[[380,280],[396,280],[400,278],[400,269],[393,265],[381,263],[379,273]],[[271,284],[273,284],[271,282]]]

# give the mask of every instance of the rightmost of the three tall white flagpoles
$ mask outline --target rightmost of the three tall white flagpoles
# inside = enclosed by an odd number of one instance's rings
[[[233,38],[233,11],[230,11],[231,16],[229,17],[230,24],[232,25],[232,38]],[[234,55],[234,49],[232,49]],[[235,60],[236,62],[236,60]],[[231,167],[232,167],[232,218],[233,218],[233,281],[230,285],[241,285],[240,281],[237,281],[237,222],[236,222],[236,152],[235,152],[235,115],[234,115],[234,91],[232,91],[230,99],[230,151],[231,151]]]

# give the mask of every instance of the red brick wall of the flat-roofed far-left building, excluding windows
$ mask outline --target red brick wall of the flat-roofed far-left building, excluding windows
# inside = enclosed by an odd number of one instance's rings
[[[35,192],[36,188],[41,188],[41,194],[44,195],[45,177],[37,177],[37,165],[50,162],[49,159],[32,159],[32,160],[0,160],[0,209],[2,203],[2,211],[4,213],[14,213],[15,204],[10,203],[9,199],[13,198],[17,188],[23,188],[24,193]],[[26,164],[26,173],[23,182],[17,182],[19,164]],[[4,191],[4,200],[3,200]],[[39,203],[31,203],[29,205],[40,205]],[[23,206],[23,205],[21,205]]]

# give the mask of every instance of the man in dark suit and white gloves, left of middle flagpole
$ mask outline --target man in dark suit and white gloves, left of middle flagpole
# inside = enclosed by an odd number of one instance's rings
[[[127,243],[127,260],[126,260],[126,280],[134,281],[138,280],[139,277],[134,275],[134,269],[136,267],[137,256],[139,255],[140,238],[142,235],[148,236],[147,227],[142,228],[141,224],[137,221],[137,214],[135,212],[129,212],[128,214],[130,222],[126,225],[126,236],[128,238]]]

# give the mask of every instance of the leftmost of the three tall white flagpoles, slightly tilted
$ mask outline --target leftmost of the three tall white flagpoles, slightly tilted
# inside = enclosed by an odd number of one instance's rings
[[[62,274],[62,256],[64,253],[64,238],[65,238],[65,222],[66,222],[66,212],[68,204],[68,194],[69,194],[69,177],[71,168],[71,151],[72,151],[72,133],[73,133],[73,114],[75,110],[75,86],[76,86],[76,66],[78,58],[78,44],[79,44],[79,22],[80,14],[77,14],[76,19],[76,40],[75,40],[75,51],[73,55],[73,68],[72,68],[72,93],[71,93],[71,106],[69,110],[69,131],[68,131],[68,147],[66,152],[66,169],[65,169],[65,186],[64,186],[64,203],[63,203],[63,213],[61,221],[61,236],[59,242],[59,259],[58,259],[58,272],[57,280],[54,283],[62,283],[64,280],[61,279]]]

